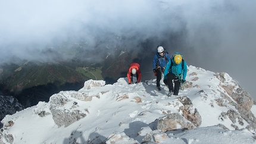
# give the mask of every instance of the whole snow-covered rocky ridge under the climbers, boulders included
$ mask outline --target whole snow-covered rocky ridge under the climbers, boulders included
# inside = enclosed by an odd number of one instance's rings
[[[179,96],[170,98],[163,82],[164,89],[156,89],[155,79],[130,85],[127,78],[107,85],[88,80],[78,91],[7,115],[1,142],[254,142],[253,99],[229,74],[189,66],[186,80]]]

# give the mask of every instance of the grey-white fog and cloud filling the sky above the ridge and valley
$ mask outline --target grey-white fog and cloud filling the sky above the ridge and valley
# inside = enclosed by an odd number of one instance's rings
[[[115,43],[143,50],[148,71],[148,58],[162,45],[170,54],[181,52],[188,65],[228,73],[256,99],[255,13],[254,0],[1,1],[0,61],[55,61],[47,49],[60,43],[83,41],[89,52],[101,41],[100,55]]]

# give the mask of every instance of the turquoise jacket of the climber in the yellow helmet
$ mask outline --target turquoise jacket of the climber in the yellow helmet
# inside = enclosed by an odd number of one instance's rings
[[[173,63],[173,66],[170,68],[171,62]],[[180,62],[180,64],[176,64],[176,63],[174,62],[173,58],[171,58],[171,60],[168,61],[168,64],[166,65],[166,69],[164,69],[164,79],[167,79],[167,74],[168,74],[169,72],[175,74],[173,67],[176,67],[178,74],[181,74],[181,73],[182,73],[182,62]],[[169,71],[169,68],[170,68],[170,71]],[[187,64],[186,64],[186,61],[184,61],[183,78],[182,78],[183,80],[186,80],[187,71],[188,71]]]

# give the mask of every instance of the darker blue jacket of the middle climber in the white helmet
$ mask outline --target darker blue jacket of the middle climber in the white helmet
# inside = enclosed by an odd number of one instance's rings
[[[153,69],[157,68],[157,65],[159,65],[161,68],[166,67],[166,64],[170,59],[170,55],[168,55],[166,52],[164,52],[163,57],[161,57],[161,55],[159,55],[157,52],[153,60]]]

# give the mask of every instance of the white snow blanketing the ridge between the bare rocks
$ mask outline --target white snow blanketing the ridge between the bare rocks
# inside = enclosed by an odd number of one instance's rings
[[[195,129],[182,130],[177,126],[177,130],[166,133],[152,131],[152,128],[157,127],[155,120],[158,118],[168,113],[182,114],[179,111],[179,105],[182,104],[177,101],[177,96],[168,98],[168,88],[164,86],[163,80],[161,86],[164,88],[158,91],[156,79],[127,84],[125,77],[114,84],[105,84],[103,80],[88,80],[78,91],[62,91],[51,96],[51,101],[54,101],[55,96],[70,100],[59,109],[86,111],[86,117],[70,126],[58,127],[52,119],[50,102],[39,102],[36,106],[7,115],[2,123],[13,121],[14,124],[3,128],[3,133],[12,134],[13,143],[101,143],[106,139],[106,143],[141,143],[148,133],[154,133],[158,143],[255,143],[254,133],[242,129],[248,126],[246,121],[243,121],[244,126],[236,124],[240,130],[235,130],[231,120],[220,120],[220,113],[232,106],[220,107],[215,103],[214,99],[220,98],[218,90],[224,93],[224,89],[218,86],[220,80],[216,74],[193,66],[188,69],[186,80],[193,82],[193,86],[180,90],[179,96],[188,96],[202,117],[201,126]],[[193,81],[195,77],[199,79]],[[231,84],[232,78],[228,75],[226,78]],[[91,101],[82,101],[82,95],[92,96]],[[253,105],[253,114],[256,113],[255,109]],[[42,110],[48,115],[39,117],[38,112]],[[223,124],[229,130],[217,124]],[[2,138],[1,142],[8,143]]]

